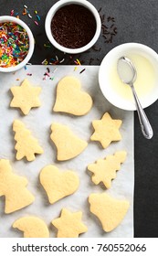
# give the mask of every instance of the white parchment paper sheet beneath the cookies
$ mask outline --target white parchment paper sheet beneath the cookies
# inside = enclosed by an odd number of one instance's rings
[[[84,68],[85,71],[80,74],[80,70]],[[57,229],[50,222],[59,217],[62,208],[83,212],[82,220],[89,230],[80,235],[82,238],[133,237],[133,112],[125,112],[115,108],[102,96],[98,83],[98,66],[78,66],[78,69],[75,70],[73,66],[49,66],[49,69],[50,78],[54,78],[54,80],[50,80],[48,77],[47,80],[43,80],[44,73],[47,71],[46,66],[27,66],[27,69],[16,71],[15,74],[0,74],[0,158],[9,159],[14,172],[19,176],[26,176],[28,179],[27,188],[36,197],[32,205],[8,215],[4,213],[5,198],[0,197],[0,237],[23,237],[22,232],[12,228],[12,224],[16,219],[27,215],[35,215],[44,219],[50,230],[50,237],[56,237]],[[28,73],[32,76],[28,76]],[[85,116],[75,117],[52,111],[58,80],[66,75],[78,77],[82,88],[88,91],[93,98],[93,107]],[[32,109],[27,116],[24,116],[18,109],[9,107],[12,100],[10,88],[19,86],[24,79],[29,80],[34,86],[42,88],[40,94],[42,106]],[[120,130],[121,142],[112,143],[107,149],[103,149],[98,142],[90,142],[90,135],[93,133],[91,122],[100,119],[104,112],[110,112],[112,118],[123,121]],[[44,154],[37,155],[33,162],[16,161],[15,133],[12,130],[15,119],[26,124],[26,127],[32,131],[44,149]],[[68,124],[74,133],[89,142],[87,149],[72,160],[58,162],[56,160],[56,147],[50,141],[50,125],[53,122]],[[126,150],[127,159],[121,165],[121,170],[117,172],[117,177],[112,181],[111,189],[106,190],[106,192],[113,197],[129,200],[131,206],[121,225],[110,233],[106,233],[101,229],[99,219],[90,213],[88,202],[90,193],[104,192],[105,188],[101,185],[96,186],[91,182],[87,165],[94,163],[98,158],[112,155],[117,150]],[[51,164],[57,165],[62,170],[76,171],[80,179],[79,190],[75,194],[59,200],[54,205],[48,203],[47,195],[38,179],[40,170]]]

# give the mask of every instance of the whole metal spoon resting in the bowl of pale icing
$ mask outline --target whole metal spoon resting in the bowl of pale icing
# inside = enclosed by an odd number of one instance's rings
[[[151,124],[149,123],[149,120],[145,114],[145,112],[142,109],[142,105],[138,99],[137,93],[134,89],[133,83],[136,80],[137,77],[137,71],[131,61],[131,59],[128,59],[127,57],[121,57],[118,59],[118,74],[120,76],[120,79],[130,85],[132,89],[132,95],[135,100],[136,109],[138,112],[139,120],[141,123],[141,129],[142,134],[146,139],[151,139],[153,137],[153,129]],[[123,72],[122,72],[123,69]]]

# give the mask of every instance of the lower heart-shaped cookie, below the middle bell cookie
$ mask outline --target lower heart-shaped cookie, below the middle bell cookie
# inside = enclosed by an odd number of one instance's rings
[[[59,171],[55,165],[47,165],[40,172],[40,183],[47,192],[50,204],[73,194],[79,187],[79,176],[73,171]]]

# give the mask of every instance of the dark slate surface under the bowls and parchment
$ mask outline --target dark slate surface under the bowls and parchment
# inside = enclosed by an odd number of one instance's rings
[[[158,52],[158,1],[157,0],[90,0],[99,10],[100,15],[105,15],[105,24],[107,17],[115,18],[114,25],[118,29],[118,34],[112,38],[111,43],[105,43],[104,38],[100,36],[96,44],[100,51],[90,49],[72,59],[68,55],[57,49],[50,47],[44,48],[47,44],[44,22],[47,11],[51,5],[57,1],[54,0],[0,0],[0,15],[9,15],[12,9],[18,12],[22,20],[32,29],[36,39],[36,48],[32,64],[41,64],[44,59],[65,58],[63,64],[74,64],[74,59],[79,58],[85,65],[100,65],[101,59],[117,45],[125,42],[138,42],[145,44]],[[23,5],[28,6],[30,14],[34,19],[28,16],[22,16]],[[41,21],[37,27],[34,23],[36,19],[34,11],[37,10]],[[108,24],[109,25],[109,24]],[[134,155],[135,155],[135,188],[134,188],[134,236],[135,237],[158,237],[158,101],[146,109],[146,113],[153,125],[154,136],[151,141],[142,137],[140,126],[135,113],[134,125]]]

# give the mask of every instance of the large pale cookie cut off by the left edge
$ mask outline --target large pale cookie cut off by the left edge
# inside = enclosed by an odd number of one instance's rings
[[[0,160],[0,197],[5,196],[5,213],[25,208],[34,201],[34,196],[27,190],[26,177],[12,172],[8,160]]]

